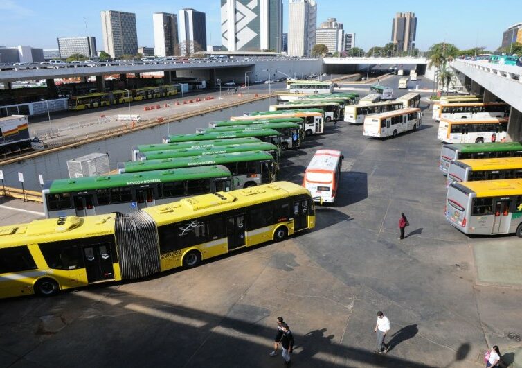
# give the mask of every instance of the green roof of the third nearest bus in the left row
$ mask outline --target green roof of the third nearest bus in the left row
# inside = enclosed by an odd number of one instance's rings
[[[268,142],[229,144],[228,146],[215,146],[205,148],[182,148],[181,150],[147,151],[140,152],[139,157],[145,159],[165,159],[170,157],[219,155],[220,153],[246,152],[246,151],[272,151],[278,150],[278,146]]]

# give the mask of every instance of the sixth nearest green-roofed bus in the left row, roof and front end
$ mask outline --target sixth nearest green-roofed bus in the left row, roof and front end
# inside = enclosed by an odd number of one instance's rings
[[[250,125],[231,125],[225,127],[216,128],[198,128],[198,133],[211,133],[211,132],[242,132],[250,130],[263,130],[273,129],[281,134],[281,150],[287,150],[288,148],[298,148],[301,145],[301,138],[303,137],[303,131],[300,130],[300,126],[297,123],[264,123],[264,124],[250,124]]]

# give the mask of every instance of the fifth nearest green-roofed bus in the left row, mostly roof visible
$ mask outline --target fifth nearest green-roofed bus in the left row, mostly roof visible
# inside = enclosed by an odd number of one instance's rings
[[[273,129],[242,130],[238,132],[212,132],[195,134],[177,134],[163,136],[163,143],[189,142],[189,141],[210,141],[214,139],[246,138],[254,137],[263,142],[275,144],[281,148],[281,134]]]

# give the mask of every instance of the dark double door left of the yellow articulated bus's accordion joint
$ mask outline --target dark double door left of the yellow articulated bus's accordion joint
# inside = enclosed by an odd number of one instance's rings
[[[93,283],[114,279],[111,246],[109,243],[87,245],[83,248],[87,281]]]

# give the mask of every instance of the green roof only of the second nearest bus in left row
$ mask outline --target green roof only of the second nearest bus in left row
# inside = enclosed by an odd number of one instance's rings
[[[170,168],[186,168],[192,166],[210,166],[229,164],[231,162],[273,160],[272,155],[264,151],[246,151],[221,153],[219,155],[188,156],[168,159],[151,159],[147,161],[118,162],[120,173],[136,173],[150,170],[167,170]]]

